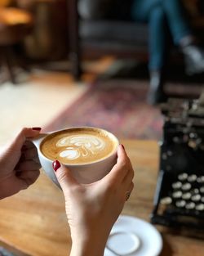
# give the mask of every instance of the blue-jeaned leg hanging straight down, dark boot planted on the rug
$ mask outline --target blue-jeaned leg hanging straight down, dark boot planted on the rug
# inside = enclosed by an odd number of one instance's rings
[[[149,77],[147,101],[155,105],[166,101],[163,72],[166,56],[166,17],[161,0],[135,0],[131,16],[133,20],[149,23]]]

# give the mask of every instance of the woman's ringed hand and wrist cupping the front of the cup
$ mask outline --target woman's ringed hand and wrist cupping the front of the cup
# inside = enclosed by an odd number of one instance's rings
[[[118,146],[118,161],[99,182],[79,184],[68,168],[55,161],[73,240],[71,255],[104,255],[109,232],[133,189],[134,171],[125,150]]]

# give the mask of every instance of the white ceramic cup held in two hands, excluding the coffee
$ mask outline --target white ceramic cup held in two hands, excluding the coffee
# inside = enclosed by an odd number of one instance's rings
[[[89,128],[89,127],[80,127],[80,128]],[[71,128],[73,129],[73,128]],[[66,165],[72,172],[73,177],[82,184],[89,184],[92,182],[96,182],[100,180],[102,177],[104,177],[106,174],[109,173],[109,171],[113,168],[113,165],[117,162],[117,150],[119,141],[118,138],[113,135],[113,133],[105,131],[101,128],[94,128],[94,129],[100,129],[102,132],[107,132],[109,134],[109,137],[111,140],[113,140],[116,143],[115,150],[113,150],[113,153],[111,155],[108,155],[104,159],[97,160],[95,162],[91,162],[88,164],[64,164]],[[69,130],[63,129],[63,130]],[[60,132],[62,130],[54,131],[54,132]],[[41,143],[46,139],[46,137],[54,132],[47,132],[40,134],[37,138],[32,139],[33,144],[37,147],[38,150],[38,157],[40,160],[40,163],[42,165],[42,169],[47,173],[47,176],[51,178],[52,182],[54,182],[57,186],[60,187],[59,182],[57,181],[57,178],[55,177],[54,170],[52,168],[52,163],[55,159],[51,160],[48,159],[45,155],[42,154],[41,151]]]

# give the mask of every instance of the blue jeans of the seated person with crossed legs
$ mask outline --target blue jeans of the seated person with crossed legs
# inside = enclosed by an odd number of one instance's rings
[[[166,21],[175,45],[190,34],[180,0],[133,0],[131,18],[149,23],[149,70],[161,70],[166,51]]]

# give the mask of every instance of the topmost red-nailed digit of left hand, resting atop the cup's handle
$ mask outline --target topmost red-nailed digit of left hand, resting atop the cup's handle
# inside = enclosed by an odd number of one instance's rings
[[[20,150],[26,139],[37,137],[40,131],[41,128],[22,128],[9,148],[12,150]]]

